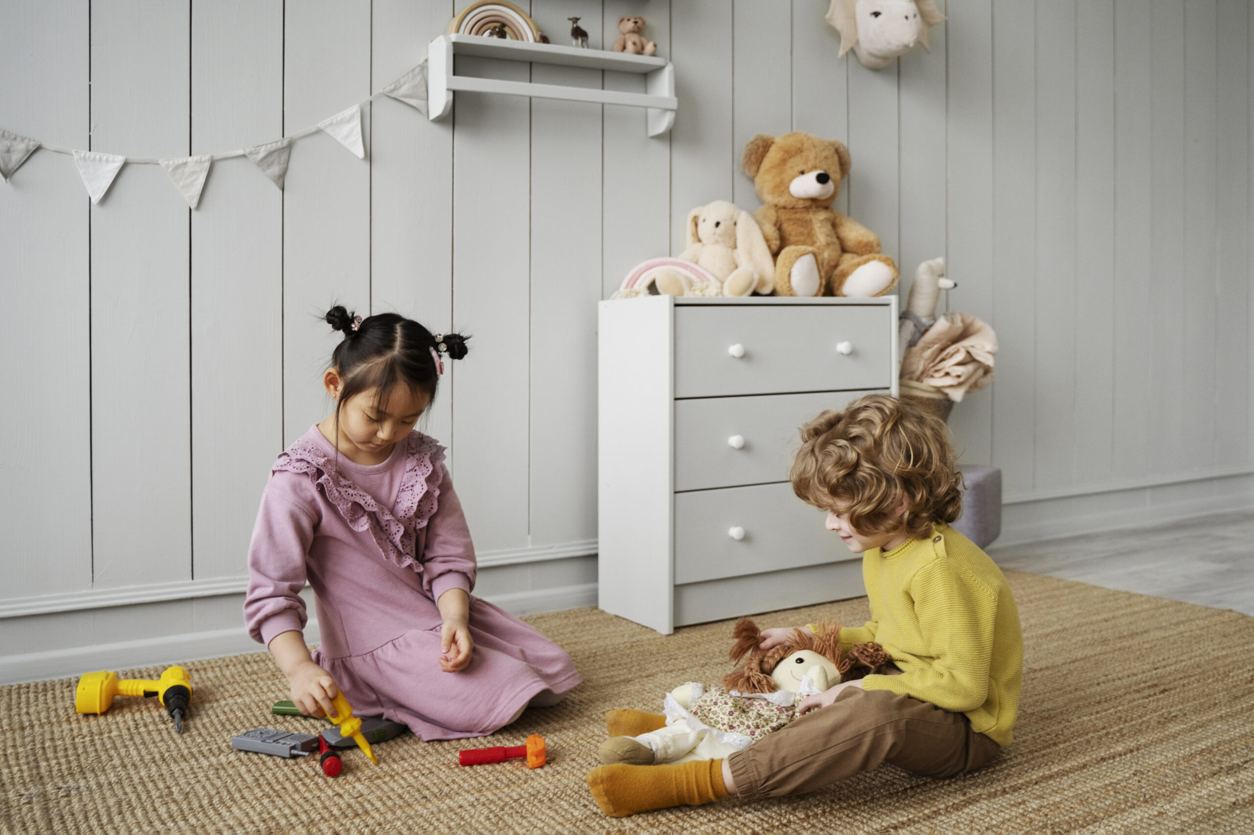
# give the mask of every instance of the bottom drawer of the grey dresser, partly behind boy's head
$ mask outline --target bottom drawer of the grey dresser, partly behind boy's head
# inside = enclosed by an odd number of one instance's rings
[[[675,582],[696,583],[854,559],[824,513],[793,485],[696,490],[675,495]],[[742,539],[731,535],[744,528]]]

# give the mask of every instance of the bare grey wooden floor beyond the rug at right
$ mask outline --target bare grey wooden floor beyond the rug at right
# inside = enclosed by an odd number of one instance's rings
[[[1003,568],[1254,614],[1254,512],[989,547]]]

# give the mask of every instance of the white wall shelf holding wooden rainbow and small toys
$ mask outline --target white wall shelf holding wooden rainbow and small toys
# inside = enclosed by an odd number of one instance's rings
[[[645,75],[646,93],[622,93],[586,87],[532,84],[492,78],[472,78],[453,71],[453,56],[497,58],[509,61],[581,66],[584,69],[637,73]],[[577,49],[553,44],[528,44],[518,40],[483,38],[480,35],[440,35],[426,50],[428,117],[443,119],[453,110],[454,90],[468,93],[502,93],[566,102],[622,104],[648,109],[648,135],[668,133],[675,124],[675,66],[662,58],[627,55],[601,49]]]

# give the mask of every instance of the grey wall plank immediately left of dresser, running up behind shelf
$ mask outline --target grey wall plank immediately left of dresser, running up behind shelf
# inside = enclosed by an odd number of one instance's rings
[[[579,16],[589,49],[601,49],[599,3],[535,0],[532,14],[548,31]],[[539,84],[599,89],[601,75],[567,66],[532,68],[532,80]],[[530,148],[529,542],[548,545],[597,538],[602,221],[601,181],[586,174],[601,171],[601,105],[533,99]]]

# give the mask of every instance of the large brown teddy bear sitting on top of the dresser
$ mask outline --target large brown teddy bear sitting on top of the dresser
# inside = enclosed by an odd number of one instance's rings
[[[779,296],[883,296],[897,286],[897,265],[880,255],[875,233],[831,208],[849,174],[849,149],[809,133],[760,133],[745,145],[741,168],[765,206],[754,212],[775,256]]]

